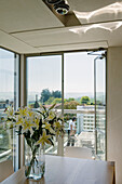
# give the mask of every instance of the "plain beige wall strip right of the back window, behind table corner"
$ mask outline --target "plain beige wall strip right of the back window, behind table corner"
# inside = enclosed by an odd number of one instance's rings
[[[122,47],[108,49],[107,159],[116,161],[117,184],[122,184]]]

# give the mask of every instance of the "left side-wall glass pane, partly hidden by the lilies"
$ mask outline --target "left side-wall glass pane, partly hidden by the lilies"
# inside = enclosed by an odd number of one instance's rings
[[[13,159],[16,170],[16,135],[14,130],[4,131],[2,127],[9,106],[18,107],[18,55],[0,49],[0,161]]]

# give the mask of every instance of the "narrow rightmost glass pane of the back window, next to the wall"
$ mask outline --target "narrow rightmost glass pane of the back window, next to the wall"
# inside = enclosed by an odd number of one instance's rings
[[[106,159],[106,58],[96,60],[96,139],[97,157]]]

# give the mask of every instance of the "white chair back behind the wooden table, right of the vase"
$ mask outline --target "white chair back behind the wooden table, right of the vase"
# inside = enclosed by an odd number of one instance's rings
[[[92,159],[92,149],[85,147],[66,146],[65,157]]]

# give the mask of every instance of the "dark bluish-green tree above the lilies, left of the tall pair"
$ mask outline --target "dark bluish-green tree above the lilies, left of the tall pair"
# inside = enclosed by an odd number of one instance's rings
[[[42,92],[41,92],[41,98],[40,98],[40,101],[41,101],[41,103],[43,104],[43,103],[45,103],[50,97],[51,97],[51,92],[50,92],[50,90],[49,89],[44,89],[44,90],[42,90]]]

